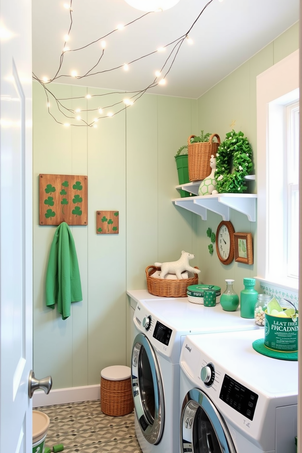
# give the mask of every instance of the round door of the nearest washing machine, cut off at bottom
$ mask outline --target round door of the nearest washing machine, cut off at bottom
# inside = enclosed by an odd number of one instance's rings
[[[182,453],[236,453],[225,421],[202,390],[187,393],[180,429]]]

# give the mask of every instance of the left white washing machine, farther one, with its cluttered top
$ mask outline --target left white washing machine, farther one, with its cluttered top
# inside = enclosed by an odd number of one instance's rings
[[[127,293],[137,301],[131,357],[136,435],[143,453],[178,453],[179,357],[185,336],[258,326],[254,319],[240,318],[239,310],[223,311],[220,304],[210,308],[143,290]]]

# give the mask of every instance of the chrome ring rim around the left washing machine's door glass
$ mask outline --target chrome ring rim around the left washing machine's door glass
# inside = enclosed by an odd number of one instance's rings
[[[144,413],[144,405],[141,400],[139,389],[138,368],[141,347],[144,347],[144,350],[147,354],[152,373],[155,399],[155,413],[153,424],[150,424],[148,417],[146,417],[146,414]],[[157,444],[160,441],[163,434],[163,425],[165,418],[163,383],[155,352],[148,338],[143,333],[139,333],[134,338],[131,356],[131,381],[132,381],[132,394],[134,399],[134,410],[136,412],[136,416],[139,421],[139,426],[142,431],[142,434],[149,443]],[[142,417],[143,419],[141,419]],[[147,425],[146,429],[142,429],[141,422]]]

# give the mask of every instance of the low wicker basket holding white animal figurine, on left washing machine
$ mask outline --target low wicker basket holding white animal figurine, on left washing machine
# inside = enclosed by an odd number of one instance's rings
[[[198,269],[198,267],[195,267]],[[165,280],[165,279],[156,279],[152,277],[152,274],[160,270],[160,267],[148,266],[146,268],[146,277],[147,277],[147,288],[150,294],[153,296],[161,297],[187,297],[187,287],[191,284],[198,283],[198,275],[194,274],[194,277],[191,279],[182,279],[182,280]]]

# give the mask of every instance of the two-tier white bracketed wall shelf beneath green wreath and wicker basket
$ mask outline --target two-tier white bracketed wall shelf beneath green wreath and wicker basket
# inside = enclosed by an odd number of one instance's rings
[[[180,186],[187,192],[194,193],[188,186],[195,183],[188,183]],[[196,182],[197,184],[197,182]],[[199,187],[199,185],[198,185]],[[198,193],[198,189],[197,189]],[[183,207],[188,211],[195,212],[206,220],[206,211],[209,209],[220,214],[223,220],[230,220],[230,207],[235,211],[245,214],[250,222],[256,221],[256,199],[255,193],[218,193],[215,195],[201,195],[197,197],[174,198],[173,204]]]

